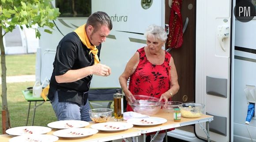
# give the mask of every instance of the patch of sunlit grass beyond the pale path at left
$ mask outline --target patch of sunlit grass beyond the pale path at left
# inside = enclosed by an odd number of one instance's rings
[[[6,75],[34,75],[36,54],[6,55]],[[0,74],[2,70],[0,70]]]

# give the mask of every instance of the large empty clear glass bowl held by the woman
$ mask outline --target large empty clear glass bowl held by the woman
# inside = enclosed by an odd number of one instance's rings
[[[128,103],[134,112],[151,116],[159,112],[162,107],[162,102],[156,97],[146,95],[134,95],[134,97],[136,101]]]

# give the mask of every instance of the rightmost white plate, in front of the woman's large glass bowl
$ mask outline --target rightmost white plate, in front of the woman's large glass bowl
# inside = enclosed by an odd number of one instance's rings
[[[149,118],[131,118],[127,120],[128,123],[140,126],[151,126],[166,123],[167,120],[161,117],[149,117]]]

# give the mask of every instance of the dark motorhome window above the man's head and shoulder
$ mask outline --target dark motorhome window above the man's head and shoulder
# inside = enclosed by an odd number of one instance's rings
[[[89,17],[91,0],[55,0],[60,17]]]

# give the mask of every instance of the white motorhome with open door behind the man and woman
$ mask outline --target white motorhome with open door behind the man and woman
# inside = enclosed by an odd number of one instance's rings
[[[205,104],[205,114],[214,116],[209,125],[211,142],[255,142],[255,113],[250,123],[245,120],[248,105],[255,108],[256,103],[256,18],[247,22],[235,18],[233,9],[239,0],[179,1],[183,44],[168,49],[180,85],[173,101]],[[147,26],[171,30],[172,0],[53,0],[52,4],[60,8],[61,15],[54,21],[53,34],[41,30],[36,65],[36,78],[41,82],[51,78],[60,39],[86,23],[95,11],[105,11],[113,22],[100,56],[112,74],[106,78],[94,75],[91,88],[120,87],[118,78],[128,60],[146,44]],[[177,128],[168,136],[189,142],[207,139],[205,123],[191,127],[192,132]]]

